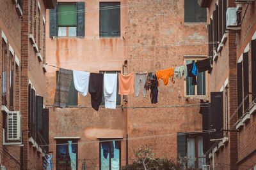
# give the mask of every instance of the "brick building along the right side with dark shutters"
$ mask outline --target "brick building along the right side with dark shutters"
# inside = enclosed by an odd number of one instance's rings
[[[214,136],[204,138],[209,143],[204,153],[212,169],[255,169],[256,4],[239,0],[198,3],[208,8],[209,41],[216,42],[209,45],[213,60],[209,78],[214,80],[210,90],[223,96],[220,133],[211,143]]]

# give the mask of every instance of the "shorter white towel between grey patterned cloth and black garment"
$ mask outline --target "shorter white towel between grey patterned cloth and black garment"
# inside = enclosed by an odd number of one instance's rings
[[[74,85],[79,94],[86,96],[89,87],[90,72],[73,70]]]

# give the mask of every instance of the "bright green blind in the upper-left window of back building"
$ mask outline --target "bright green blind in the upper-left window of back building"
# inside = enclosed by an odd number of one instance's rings
[[[76,25],[76,4],[58,5],[58,25],[74,26]]]

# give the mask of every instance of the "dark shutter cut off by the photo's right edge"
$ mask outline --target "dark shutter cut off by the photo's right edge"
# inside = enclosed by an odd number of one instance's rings
[[[252,99],[256,99],[256,39],[251,41],[252,57]]]

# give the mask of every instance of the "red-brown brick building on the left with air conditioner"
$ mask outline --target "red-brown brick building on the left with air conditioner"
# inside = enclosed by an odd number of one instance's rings
[[[45,12],[56,1],[1,1],[1,169],[41,169],[49,114],[45,97]],[[44,122],[44,123],[43,123]],[[3,129],[3,130],[2,130]]]

